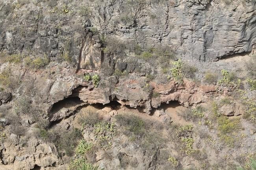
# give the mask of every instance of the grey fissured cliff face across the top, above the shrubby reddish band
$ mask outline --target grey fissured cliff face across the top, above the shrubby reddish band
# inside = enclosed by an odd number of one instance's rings
[[[80,49],[91,48],[82,43],[88,43],[88,27],[124,42],[137,42],[143,48],[168,45],[184,58],[202,61],[252,51],[256,38],[253,0],[1,4],[0,49],[9,53],[32,49],[56,57],[65,51],[78,62]],[[100,58],[100,53],[94,55]]]

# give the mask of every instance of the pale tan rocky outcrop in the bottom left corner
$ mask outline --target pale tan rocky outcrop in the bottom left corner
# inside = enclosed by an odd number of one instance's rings
[[[29,139],[28,147],[18,145],[19,137],[11,134],[9,143],[2,145],[0,168],[5,170],[30,170],[34,167],[44,167],[51,170],[52,166],[61,166],[63,161],[59,159],[56,146],[45,144],[36,139]]]

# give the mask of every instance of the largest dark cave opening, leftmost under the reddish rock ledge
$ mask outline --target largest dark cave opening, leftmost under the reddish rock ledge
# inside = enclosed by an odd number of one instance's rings
[[[79,97],[68,97],[53,104],[51,113],[57,113],[62,108],[70,108],[84,103]]]

